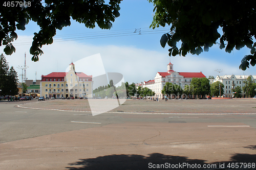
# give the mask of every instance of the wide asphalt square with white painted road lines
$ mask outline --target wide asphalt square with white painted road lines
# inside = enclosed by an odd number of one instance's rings
[[[0,169],[256,163],[255,102],[127,100],[96,116],[86,100],[0,102]]]

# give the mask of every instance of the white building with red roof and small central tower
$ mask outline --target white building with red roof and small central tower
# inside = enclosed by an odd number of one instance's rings
[[[162,89],[166,82],[178,84],[182,89],[190,85],[192,78],[204,78],[202,72],[177,72],[174,65],[169,63],[166,72],[157,72],[154,80],[144,81],[141,86],[154,91],[159,99],[163,99]]]

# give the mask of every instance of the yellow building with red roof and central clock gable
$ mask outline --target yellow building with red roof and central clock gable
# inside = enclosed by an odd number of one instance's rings
[[[93,80],[83,72],[75,71],[73,62],[69,65],[69,72],[52,72],[41,76],[40,96],[51,98],[62,97],[93,97]]]

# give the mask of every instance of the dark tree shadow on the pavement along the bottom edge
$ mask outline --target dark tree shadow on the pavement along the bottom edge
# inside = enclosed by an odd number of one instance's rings
[[[220,168],[221,165],[227,167],[229,162],[255,163],[256,155],[235,154],[227,162],[205,163],[207,160],[188,159],[184,156],[164,155],[153,153],[148,156],[143,155],[106,155],[97,158],[80,159],[78,162],[70,163],[70,170],[98,170],[98,169],[212,169]],[[162,164],[162,166],[161,166]],[[195,164],[197,168],[195,168]],[[201,168],[198,167],[200,164]],[[206,164],[206,168],[203,165]],[[214,166],[214,164],[216,164]],[[159,167],[157,168],[157,166]],[[181,166],[184,165],[184,166]],[[189,168],[190,165],[190,168]],[[207,168],[208,165],[208,168]],[[73,166],[73,167],[72,167]],[[155,166],[155,168],[154,168]],[[160,167],[161,166],[161,167]],[[194,166],[194,167],[193,167]]]

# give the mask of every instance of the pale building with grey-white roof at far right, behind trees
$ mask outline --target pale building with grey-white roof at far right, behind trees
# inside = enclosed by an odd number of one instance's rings
[[[226,98],[231,98],[233,95],[232,89],[235,89],[237,86],[240,86],[241,89],[243,90],[243,87],[245,86],[244,81],[248,78],[249,76],[235,76],[235,75],[225,75],[225,76],[216,76],[215,79],[209,79],[210,84],[220,81],[221,83],[224,84],[224,95]],[[256,80],[256,76],[252,76],[253,80]],[[256,82],[256,81],[255,81]],[[242,93],[242,96],[244,96],[245,93]]]

